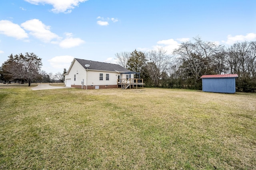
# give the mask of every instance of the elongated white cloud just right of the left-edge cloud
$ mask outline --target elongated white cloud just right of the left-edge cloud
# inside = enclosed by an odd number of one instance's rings
[[[30,31],[30,35],[40,39],[43,42],[50,42],[52,39],[59,39],[60,37],[50,31],[50,26],[44,25],[38,19],[28,20],[21,24],[21,26]]]

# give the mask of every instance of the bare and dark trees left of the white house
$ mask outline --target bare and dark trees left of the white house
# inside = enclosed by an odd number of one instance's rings
[[[34,53],[22,53],[18,55],[8,56],[0,67],[0,82],[8,84],[11,82],[18,82],[24,84],[31,82],[36,83],[50,83],[50,82],[64,82],[64,75],[67,71],[64,68],[63,73],[57,72],[56,74],[47,73],[41,70],[42,59]]]

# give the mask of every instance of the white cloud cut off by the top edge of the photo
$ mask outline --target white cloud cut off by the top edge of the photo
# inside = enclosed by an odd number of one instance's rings
[[[72,9],[78,7],[80,3],[86,2],[87,0],[25,0],[30,4],[50,4],[53,6],[52,12],[54,13],[70,13]]]

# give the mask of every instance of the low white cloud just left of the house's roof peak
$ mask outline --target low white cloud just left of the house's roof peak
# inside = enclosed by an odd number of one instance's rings
[[[70,55],[56,56],[48,60],[53,68],[69,68],[74,57]]]

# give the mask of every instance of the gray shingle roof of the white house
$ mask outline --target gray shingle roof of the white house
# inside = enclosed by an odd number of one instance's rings
[[[85,64],[89,64],[88,70],[102,70],[102,71],[118,71],[118,72],[130,72],[126,68],[118,65],[118,64],[111,64],[111,63],[103,63],[98,61],[90,61],[84,59],[76,59],[78,63],[80,63],[85,69],[87,67]]]

